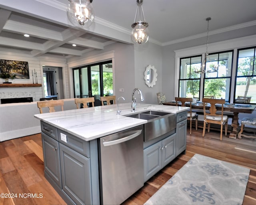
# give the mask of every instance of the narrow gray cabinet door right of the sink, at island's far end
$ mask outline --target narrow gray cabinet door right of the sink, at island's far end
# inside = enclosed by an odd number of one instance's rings
[[[186,150],[187,120],[177,123],[176,135],[176,156],[178,156]]]

